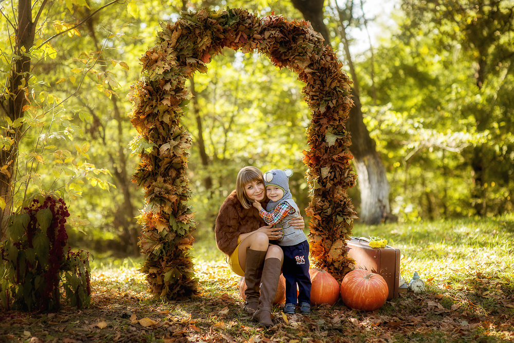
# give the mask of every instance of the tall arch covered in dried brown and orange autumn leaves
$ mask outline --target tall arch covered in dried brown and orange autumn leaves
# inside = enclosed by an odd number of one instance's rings
[[[244,9],[202,9],[161,24],[155,46],[140,59],[141,80],[128,95],[138,132],[131,149],[141,158],[133,181],[145,197],[138,218],[139,244],[146,255],[141,271],[151,292],[170,299],[197,292],[189,255],[195,227],[186,177],[191,136],[180,120],[191,98],[186,80],[196,71],[206,72],[211,57],[225,47],[264,54],[305,83],[304,98],[312,111],[309,150],[304,151],[311,196],[306,208],[310,254],[316,266],[341,280],[349,270],[345,240],[357,218],[346,193],[355,184],[344,125],[353,105],[352,81],[308,22],[278,15],[259,18]]]

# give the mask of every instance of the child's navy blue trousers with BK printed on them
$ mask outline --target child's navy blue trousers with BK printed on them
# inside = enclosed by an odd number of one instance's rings
[[[281,246],[284,252],[282,275],[286,279],[286,303],[310,304],[309,243],[307,240],[296,245]],[[297,285],[298,290],[297,291]]]

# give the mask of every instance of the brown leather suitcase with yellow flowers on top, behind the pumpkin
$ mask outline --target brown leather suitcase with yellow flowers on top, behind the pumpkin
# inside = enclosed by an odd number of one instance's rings
[[[365,269],[380,274],[386,280],[389,288],[388,300],[398,297],[400,281],[400,250],[386,245],[383,248],[373,248],[369,239],[352,237],[346,241],[348,257],[355,260],[356,269]]]

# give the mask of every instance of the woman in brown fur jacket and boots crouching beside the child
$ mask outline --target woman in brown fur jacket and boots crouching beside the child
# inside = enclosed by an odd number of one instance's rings
[[[271,306],[277,294],[284,254],[279,245],[269,244],[281,238],[280,228],[266,224],[252,206],[259,201],[266,207],[263,173],[247,166],[237,174],[235,190],[225,199],[216,218],[216,244],[227,255],[230,269],[245,277],[244,310],[265,327],[273,325]],[[303,230],[302,217],[290,224]],[[262,283],[262,284],[261,284]]]

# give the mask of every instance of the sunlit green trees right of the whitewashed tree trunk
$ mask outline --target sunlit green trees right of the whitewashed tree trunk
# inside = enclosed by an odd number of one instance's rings
[[[511,22],[492,19],[511,6],[463,3],[406,2],[407,15],[396,12],[401,29],[374,51],[373,79],[370,55],[358,64],[365,123],[388,166],[393,213],[403,221],[514,208],[514,69],[505,59],[514,31]],[[498,30],[484,39],[482,31],[472,34],[479,27]]]

